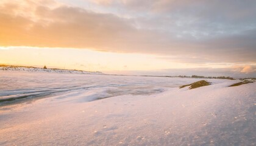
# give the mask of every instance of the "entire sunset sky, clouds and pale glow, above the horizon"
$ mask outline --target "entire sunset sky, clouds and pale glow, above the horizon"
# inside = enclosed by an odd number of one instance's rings
[[[256,1],[0,0],[0,64],[256,77]]]

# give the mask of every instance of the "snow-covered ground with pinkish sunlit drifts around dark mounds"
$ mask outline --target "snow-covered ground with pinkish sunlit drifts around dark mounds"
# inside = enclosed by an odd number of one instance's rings
[[[198,80],[0,71],[0,145],[256,145],[256,83]]]

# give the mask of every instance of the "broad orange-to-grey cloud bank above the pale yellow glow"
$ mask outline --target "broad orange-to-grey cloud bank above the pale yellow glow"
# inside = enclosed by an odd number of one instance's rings
[[[158,54],[188,63],[256,62],[252,1],[95,2],[104,8],[124,7],[132,17],[51,0],[3,1],[0,46]]]

